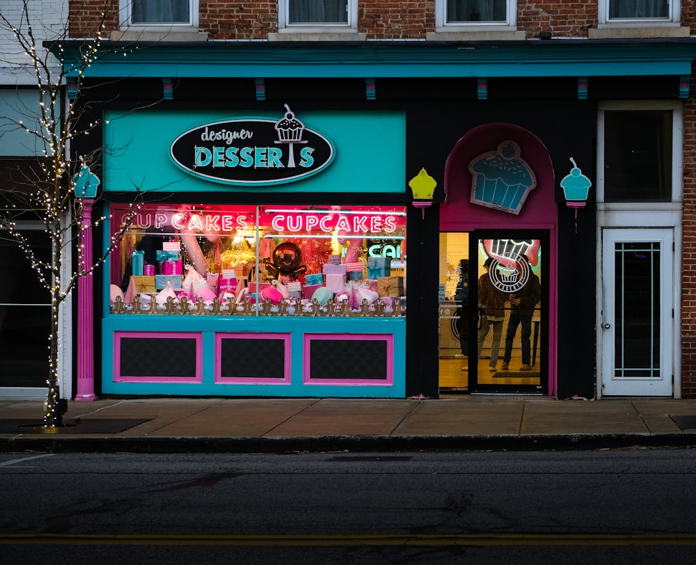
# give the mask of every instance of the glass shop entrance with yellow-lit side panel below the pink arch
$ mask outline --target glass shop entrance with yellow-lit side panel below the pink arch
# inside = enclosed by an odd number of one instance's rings
[[[513,230],[441,234],[441,390],[548,390],[547,239]]]

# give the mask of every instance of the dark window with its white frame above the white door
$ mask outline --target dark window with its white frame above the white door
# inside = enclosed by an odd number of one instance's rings
[[[681,133],[681,110],[672,104],[603,104],[599,113],[599,199],[679,200]]]

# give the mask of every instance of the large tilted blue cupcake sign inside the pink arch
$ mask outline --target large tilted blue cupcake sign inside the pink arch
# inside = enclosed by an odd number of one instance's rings
[[[519,214],[529,193],[537,186],[537,177],[520,157],[514,141],[503,141],[495,151],[480,154],[469,163],[473,204]]]

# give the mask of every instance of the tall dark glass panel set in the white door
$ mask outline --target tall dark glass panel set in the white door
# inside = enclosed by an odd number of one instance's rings
[[[660,376],[660,242],[615,244],[615,377]]]

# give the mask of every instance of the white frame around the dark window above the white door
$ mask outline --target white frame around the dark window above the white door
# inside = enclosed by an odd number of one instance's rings
[[[597,112],[597,202],[604,202],[604,112],[635,110],[672,111],[672,198],[670,202],[607,202],[603,209],[671,210],[675,202],[683,200],[683,105],[681,102],[635,100],[631,102],[602,102]]]

